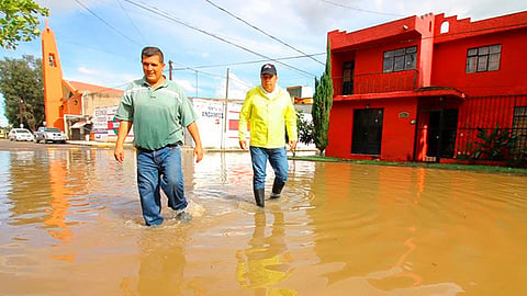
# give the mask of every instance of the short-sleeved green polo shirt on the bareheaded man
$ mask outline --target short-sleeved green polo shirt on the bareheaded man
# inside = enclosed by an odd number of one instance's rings
[[[183,141],[183,128],[198,118],[192,103],[176,82],[166,80],[152,89],[145,78],[128,86],[115,116],[133,122],[134,146],[148,150]]]

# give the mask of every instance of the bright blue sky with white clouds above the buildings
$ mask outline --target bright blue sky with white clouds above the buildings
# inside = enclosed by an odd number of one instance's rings
[[[173,80],[187,95],[225,98],[228,69],[228,96],[236,99],[259,83],[259,68],[267,61],[277,65],[281,87],[314,87],[314,77],[324,71],[326,36],[333,30],[351,32],[429,12],[476,21],[527,10],[525,0],[36,2],[51,10],[49,27],[67,80],[123,89],[142,77],[141,49],[155,45],[165,53],[166,70],[172,60]],[[16,50],[0,49],[2,58],[22,55],[41,57],[41,41],[23,43]]]

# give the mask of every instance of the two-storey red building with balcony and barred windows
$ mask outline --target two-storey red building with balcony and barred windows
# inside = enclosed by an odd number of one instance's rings
[[[496,126],[517,137],[511,151],[525,151],[525,20],[527,12],[476,22],[426,14],[329,32],[334,102],[326,156],[470,158],[478,133]]]

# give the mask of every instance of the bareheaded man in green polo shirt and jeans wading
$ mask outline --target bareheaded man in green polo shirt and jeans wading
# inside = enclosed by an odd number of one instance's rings
[[[160,225],[164,220],[160,189],[168,197],[168,206],[178,212],[177,217],[190,221],[192,216],[184,212],[188,202],[181,170],[181,144],[183,128],[187,128],[195,144],[195,161],[203,158],[195,124],[198,116],[183,90],[162,75],[162,52],[157,47],[145,47],[141,58],[145,76],[128,86],[115,114],[120,126],[114,156],[123,162],[124,140],[133,125],[137,187],[146,225]]]

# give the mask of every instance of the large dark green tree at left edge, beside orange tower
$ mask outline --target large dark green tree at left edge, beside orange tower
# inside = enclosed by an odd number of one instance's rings
[[[13,126],[35,130],[45,121],[42,59],[23,56],[0,60],[0,93],[5,104],[5,117]]]

